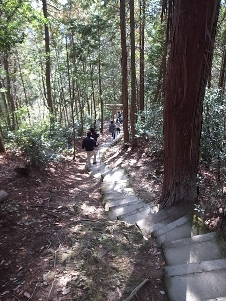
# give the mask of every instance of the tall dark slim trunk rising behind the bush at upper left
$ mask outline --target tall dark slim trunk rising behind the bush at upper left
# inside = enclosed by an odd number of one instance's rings
[[[47,89],[47,103],[50,114],[53,116],[53,106],[52,106],[52,95],[51,95],[51,74],[50,74],[50,34],[48,26],[48,12],[46,0],[42,0],[43,5],[43,15],[45,18],[45,49],[46,49],[46,89]]]

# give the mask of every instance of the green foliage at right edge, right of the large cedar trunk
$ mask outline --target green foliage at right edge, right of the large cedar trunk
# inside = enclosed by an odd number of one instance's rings
[[[200,157],[209,164],[226,158],[226,99],[220,95],[207,89],[204,99]]]

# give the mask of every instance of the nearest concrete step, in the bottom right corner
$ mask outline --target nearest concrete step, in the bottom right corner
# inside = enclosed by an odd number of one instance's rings
[[[204,301],[226,295],[226,259],[164,268],[170,301]]]

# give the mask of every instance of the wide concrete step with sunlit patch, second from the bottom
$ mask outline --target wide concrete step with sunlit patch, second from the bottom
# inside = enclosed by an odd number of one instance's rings
[[[163,244],[162,248],[168,266],[226,257],[226,244],[215,232],[174,240]]]

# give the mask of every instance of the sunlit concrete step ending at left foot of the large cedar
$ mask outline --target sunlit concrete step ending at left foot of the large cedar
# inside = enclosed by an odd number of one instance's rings
[[[136,224],[138,220],[142,217],[147,217],[150,213],[155,213],[158,211],[158,205],[156,202],[151,201],[150,203],[138,208],[132,212],[122,214],[118,216],[118,219],[128,221],[131,224]]]

